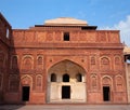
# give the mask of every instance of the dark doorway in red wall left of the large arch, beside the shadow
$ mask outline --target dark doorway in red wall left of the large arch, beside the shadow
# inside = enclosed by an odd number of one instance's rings
[[[22,88],[22,100],[23,101],[29,101],[29,86],[23,86]]]

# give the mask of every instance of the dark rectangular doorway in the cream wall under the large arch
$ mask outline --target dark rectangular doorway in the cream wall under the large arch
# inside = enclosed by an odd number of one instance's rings
[[[70,86],[62,86],[62,99],[70,99]]]

